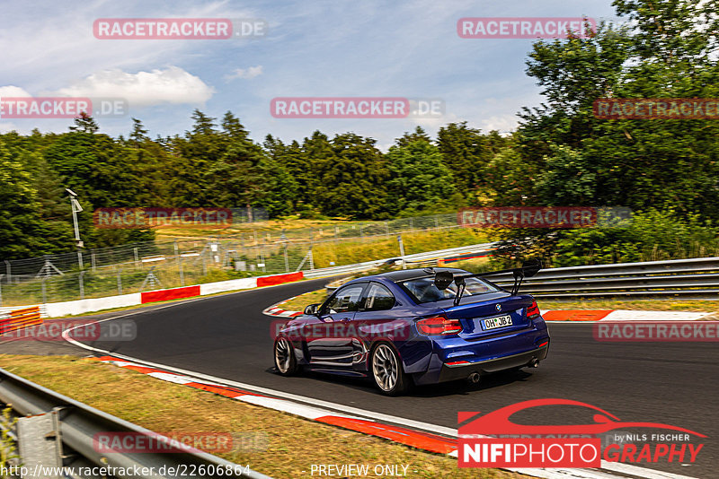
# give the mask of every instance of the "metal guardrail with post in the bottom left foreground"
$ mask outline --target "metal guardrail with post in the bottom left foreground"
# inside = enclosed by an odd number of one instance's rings
[[[114,467],[132,469],[133,466],[139,468],[153,467],[155,474],[143,475],[150,478],[167,478],[167,477],[247,477],[250,479],[271,479],[267,475],[262,475],[252,471],[249,467],[237,465],[230,461],[226,461],[217,456],[205,452],[113,452],[101,453],[93,448],[93,436],[98,433],[107,433],[108,431],[120,433],[135,433],[147,437],[150,440],[156,440],[155,432],[146,430],[131,422],[124,421],[111,414],[103,413],[89,405],[84,405],[79,401],[75,401],[70,397],[63,396],[48,388],[43,388],[27,379],[23,379],[11,372],[0,369],[0,401],[4,405],[13,408],[16,414],[21,416],[32,415],[32,418],[21,418],[18,423],[17,437],[20,442],[20,451],[23,455],[23,431],[25,434],[31,435],[29,425],[20,427],[23,421],[34,420],[46,416],[49,421],[41,427],[45,427],[39,440],[31,441],[29,450],[31,456],[38,457],[37,448],[42,448],[43,444],[50,446],[50,451],[45,451],[45,464],[42,466],[67,466],[67,471],[78,470],[80,467],[88,466]],[[42,416],[37,416],[42,414]],[[55,424],[53,431],[53,424]],[[48,431],[49,428],[49,431]],[[169,439],[168,439],[169,440]],[[46,448],[47,449],[47,448]],[[55,451],[55,453],[53,453]],[[24,466],[29,466],[33,462],[31,457],[21,458]],[[54,463],[54,464],[53,464]],[[161,467],[167,471],[170,467],[174,467],[175,471],[184,470],[185,474],[180,472],[174,475],[159,474]],[[178,469],[180,467],[180,469]],[[217,474],[217,469],[222,468],[222,473]],[[193,471],[197,473],[191,474]],[[200,474],[201,471],[201,474]],[[211,472],[210,472],[211,471]],[[26,475],[26,477],[28,477]],[[42,475],[43,478],[49,477]],[[58,475],[57,477],[67,477],[67,475]],[[75,476],[75,477],[93,477],[93,476]],[[137,479],[138,475],[97,475],[96,477],[119,477]]]

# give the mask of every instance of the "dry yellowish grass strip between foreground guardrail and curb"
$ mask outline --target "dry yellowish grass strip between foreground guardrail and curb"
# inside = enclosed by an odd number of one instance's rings
[[[240,403],[73,356],[0,355],[0,367],[152,431],[261,434],[266,448],[218,454],[273,477],[310,477],[312,464],[408,465],[408,477],[528,476],[459,469],[457,459]],[[244,436],[246,437],[246,436]],[[401,470],[401,469],[400,469]]]

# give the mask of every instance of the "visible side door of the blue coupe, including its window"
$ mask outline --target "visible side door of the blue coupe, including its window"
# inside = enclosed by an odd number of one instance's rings
[[[306,334],[310,364],[314,367],[349,369],[352,364],[352,337],[346,334],[367,283],[340,287],[320,308],[320,324]]]

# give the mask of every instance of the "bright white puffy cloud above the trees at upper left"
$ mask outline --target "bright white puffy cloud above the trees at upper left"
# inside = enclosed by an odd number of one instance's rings
[[[133,107],[205,103],[215,89],[177,66],[164,70],[129,74],[119,69],[103,70],[55,91],[61,96],[111,97],[127,100]]]

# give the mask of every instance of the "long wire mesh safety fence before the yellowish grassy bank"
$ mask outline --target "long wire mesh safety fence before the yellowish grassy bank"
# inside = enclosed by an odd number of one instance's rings
[[[43,266],[33,274],[0,274],[0,307],[101,298],[266,274],[309,273],[354,265],[366,257],[413,255],[436,249],[432,247],[437,244],[446,247],[472,244],[478,238],[473,231],[448,231],[449,227],[442,226],[439,220],[417,223],[414,230],[417,234],[368,235],[363,230],[361,237],[338,236],[305,242],[278,238],[253,245],[222,237],[177,240],[152,248],[130,245],[124,250],[129,254],[124,262],[102,265],[95,258],[85,263],[82,270],[63,270],[51,257],[46,257]],[[439,231],[438,234],[428,235],[425,233],[430,230],[420,229],[438,223],[439,230],[432,230]],[[14,272],[13,268],[5,269]]]

